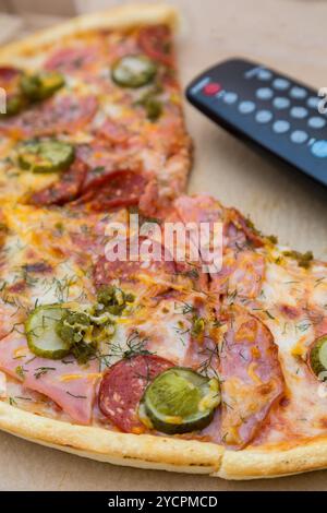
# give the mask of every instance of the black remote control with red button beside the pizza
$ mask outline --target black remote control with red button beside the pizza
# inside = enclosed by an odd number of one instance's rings
[[[327,115],[319,114],[317,91],[270,68],[231,59],[194,80],[186,96],[216,123],[327,186]]]

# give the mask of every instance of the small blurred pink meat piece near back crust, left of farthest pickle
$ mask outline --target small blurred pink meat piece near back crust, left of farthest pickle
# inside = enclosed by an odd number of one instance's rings
[[[60,48],[47,60],[45,69],[61,72],[78,71],[92,64],[95,58],[95,48]]]

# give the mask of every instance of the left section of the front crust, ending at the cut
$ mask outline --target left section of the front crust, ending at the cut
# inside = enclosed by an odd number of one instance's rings
[[[40,417],[1,402],[0,428],[80,456],[144,468],[211,474],[219,468],[223,453],[223,449],[214,443],[76,426]]]

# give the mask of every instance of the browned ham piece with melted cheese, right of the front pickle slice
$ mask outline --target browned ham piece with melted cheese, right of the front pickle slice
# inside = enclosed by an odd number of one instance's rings
[[[241,307],[228,312],[220,349],[221,440],[234,449],[249,444],[284,392],[278,349],[270,331]]]

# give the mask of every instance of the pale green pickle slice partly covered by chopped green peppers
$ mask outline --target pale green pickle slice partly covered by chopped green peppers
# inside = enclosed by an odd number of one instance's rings
[[[57,325],[65,312],[58,305],[36,308],[25,322],[27,345],[43,358],[59,360],[70,353],[71,344],[57,334]]]

